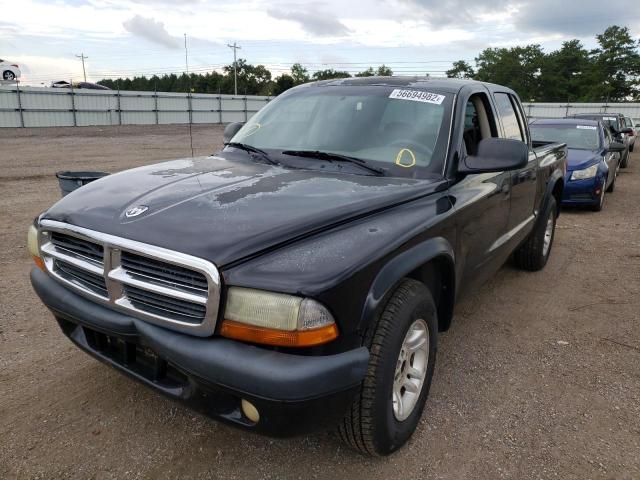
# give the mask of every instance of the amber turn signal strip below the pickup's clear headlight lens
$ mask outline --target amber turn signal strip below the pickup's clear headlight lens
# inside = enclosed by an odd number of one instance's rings
[[[338,327],[332,323],[312,330],[275,330],[224,320],[220,327],[220,335],[234,340],[279,347],[312,347],[337,338]]]

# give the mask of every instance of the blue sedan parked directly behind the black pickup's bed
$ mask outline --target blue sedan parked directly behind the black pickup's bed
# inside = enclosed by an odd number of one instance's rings
[[[533,144],[567,144],[563,205],[602,210],[605,191],[613,192],[625,146],[598,120],[537,119],[529,123]]]

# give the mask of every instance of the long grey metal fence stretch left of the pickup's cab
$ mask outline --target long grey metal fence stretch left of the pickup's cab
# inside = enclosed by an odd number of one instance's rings
[[[0,87],[0,127],[247,121],[271,97]]]

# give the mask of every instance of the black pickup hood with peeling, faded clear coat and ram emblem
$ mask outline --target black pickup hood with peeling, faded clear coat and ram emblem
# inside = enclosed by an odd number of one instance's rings
[[[325,173],[199,157],[96,180],[64,197],[42,218],[170,248],[223,267],[445,184],[441,177]]]

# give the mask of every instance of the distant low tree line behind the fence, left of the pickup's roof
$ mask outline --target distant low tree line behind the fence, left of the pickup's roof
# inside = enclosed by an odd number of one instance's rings
[[[271,72],[264,65],[251,65],[245,59],[237,61],[238,95],[270,95],[275,96],[302,83],[331,78],[351,77],[346,71],[334,69],[318,70],[313,74],[300,63],[295,63],[289,73],[283,73],[273,78]],[[391,76],[393,71],[381,65],[374,69],[369,67],[356,73],[356,77],[370,77],[374,75]],[[103,79],[97,83],[113,90],[137,90],[158,92],[193,92],[193,93],[223,93],[234,92],[234,66],[227,65],[222,72],[212,71],[204,74],[183,73],[176,75],[153,75],[150,77],[136,76],[133,78]]]

